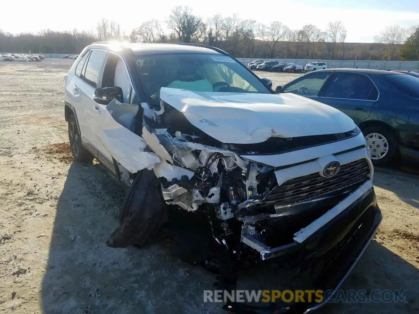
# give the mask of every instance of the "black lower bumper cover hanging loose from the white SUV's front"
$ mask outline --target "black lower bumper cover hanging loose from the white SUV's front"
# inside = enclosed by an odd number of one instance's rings
[[[282,301],[261,306],[227,303],[223,309],[238,313],[299,313],[306,314],[330,302],[343,281],[354,268],[380,226],[383,216],[378,207],[374,188],[368,189],[357,201],[345,208],[328,224],[313,233],[303,243],[266,250],[282,259],[297,259],[305,271],[295,278],[303,282],[298,290],[332,291],[316,303],[287,304]]]

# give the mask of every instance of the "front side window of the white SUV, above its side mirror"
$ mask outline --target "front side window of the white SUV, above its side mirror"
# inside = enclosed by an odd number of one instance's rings
[[[101,87],[118,86],[122,88],[124,103],[131,101],[131,81],[125,67],[124,61],[116,54],[109,53],[106,65],[103,69],[103,79]]]

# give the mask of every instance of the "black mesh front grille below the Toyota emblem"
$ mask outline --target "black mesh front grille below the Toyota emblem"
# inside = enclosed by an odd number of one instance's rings
[[[370,167],[366,159],[342,165],[331,178],[324,178],[318,172],[284,182],[274,188],[262,200],[262,206],[271,204],[296,204],[313,198],[326,196],[339,190],[357,188],[368,180]]]

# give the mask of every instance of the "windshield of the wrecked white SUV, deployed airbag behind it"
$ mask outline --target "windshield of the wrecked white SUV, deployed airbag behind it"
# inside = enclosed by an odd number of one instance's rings
[[[270,90],[234,59],[215,54],[137,56],[137,71],[150,105],[160,103],[160,88],[199,92],[263,93]]]

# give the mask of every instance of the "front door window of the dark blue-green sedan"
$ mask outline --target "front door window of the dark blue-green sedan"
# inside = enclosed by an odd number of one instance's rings
[[[301,96],[317,96],[330,75],[331,72],[312,72],[306,74],[290,85],[285,85],[283,92]]]

